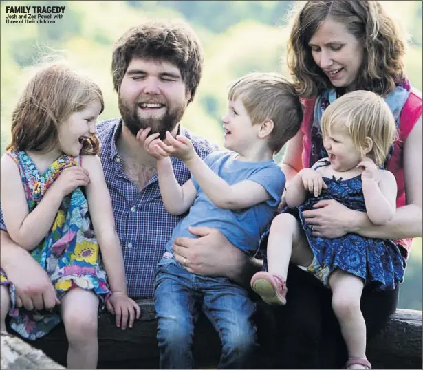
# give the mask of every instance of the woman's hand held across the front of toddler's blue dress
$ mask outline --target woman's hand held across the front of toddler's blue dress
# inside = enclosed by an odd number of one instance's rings
[[[312,226],[314,237],[338,238],[355,232],[367,217],[365,212],[351,210],[334,199],[321,200],[314,210],[303,211],[305,222]]]

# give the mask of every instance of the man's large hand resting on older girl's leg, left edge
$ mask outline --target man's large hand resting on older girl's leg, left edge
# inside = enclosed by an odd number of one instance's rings
[[[14,244],[5,231],[1,231],[1,243],[2,259],[7,256],[7,263],[3,261],[2,268],[14,285],[17,307],[28,310],[52,309],[60,304],[50,277],[39,263],[23,248]]]

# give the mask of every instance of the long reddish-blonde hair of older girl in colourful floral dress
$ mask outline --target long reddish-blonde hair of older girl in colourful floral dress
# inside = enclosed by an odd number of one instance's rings
[[[12,141],[6,150],[50,151],[58,143],[58,125],[90,102],[104,100],[100,87],[63,61],[37,68],[12,113]],[[84,140],[81,154],[100,150],[96,135]]]

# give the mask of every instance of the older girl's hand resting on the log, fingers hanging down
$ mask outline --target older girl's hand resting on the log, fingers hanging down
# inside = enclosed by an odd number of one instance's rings
[[[122,330],[132,327],[135,318],[140,318],[140,306],[124,292],[113,292],[107,299],[106,307],[116,317],[116,327]]]

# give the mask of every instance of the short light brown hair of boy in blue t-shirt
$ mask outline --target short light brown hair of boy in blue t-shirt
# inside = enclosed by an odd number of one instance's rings
[[[241,100],[252,124],[272,120],[274,128],[268,145],[279,152],[299,131],[303,106],[294,86],[281,74],[254,72],[230,85],[229,100]]]

